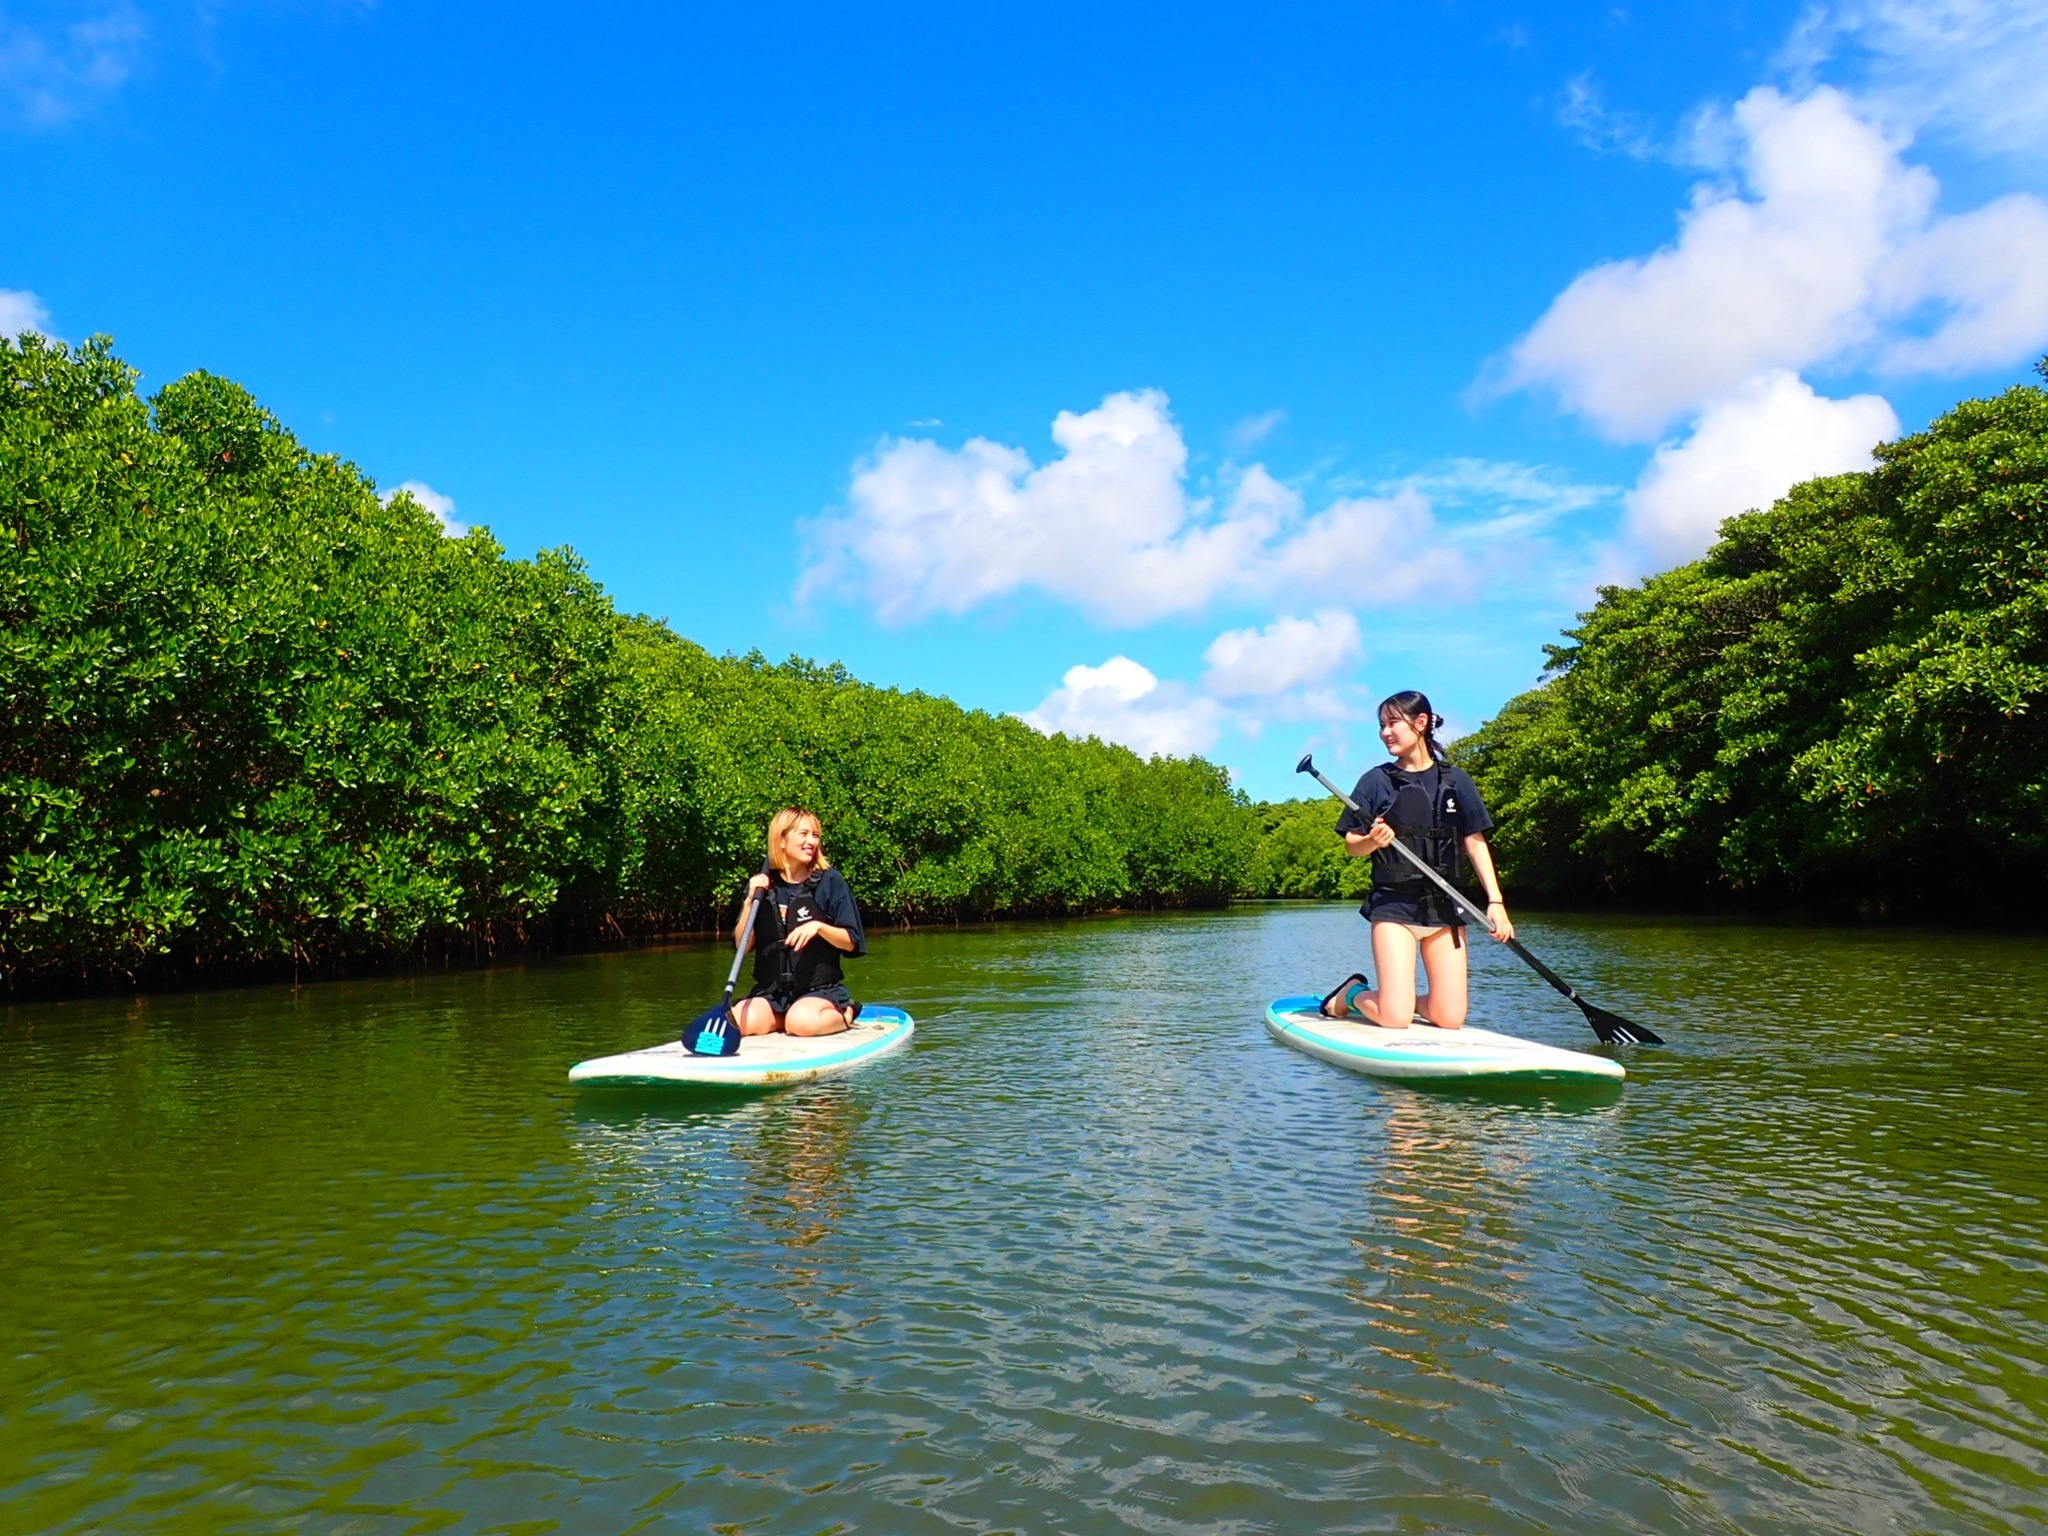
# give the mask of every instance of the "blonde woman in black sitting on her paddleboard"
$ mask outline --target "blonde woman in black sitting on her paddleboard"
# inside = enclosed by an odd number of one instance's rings
[[[866,954],[868,938],[823,838],[809,811],[776,811],[768,823],[770,872],[748,881],[748,901],[760,893],[762,909],[748,940],[756,946],[754,991],[733,1004],[741,1034],[838,1034],[860,1014],[840,956]],[[741,907],[735,944],[745,918]]]

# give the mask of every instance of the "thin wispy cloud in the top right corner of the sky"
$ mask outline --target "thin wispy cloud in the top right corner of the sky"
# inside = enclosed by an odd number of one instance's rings
[[[2040,0],[1847,0],[1819,6],[1788,61],[1835,59],[1872,109],[1976,150],[2048,150],[2048,6]]]

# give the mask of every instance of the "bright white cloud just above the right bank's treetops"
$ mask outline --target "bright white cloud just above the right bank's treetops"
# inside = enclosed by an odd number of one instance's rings
[[[1825,399],[1792,373],[1765,373],[1708,408],[1683,442],[1657,449],[1628,496],[1628,535],[1655,561],[1694,559],[1724,518],[1802,479],[1868,469],[1870,451],[1896,432],[1880,395]]]

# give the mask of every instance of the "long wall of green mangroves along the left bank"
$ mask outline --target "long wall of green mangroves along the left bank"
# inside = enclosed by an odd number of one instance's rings
[[[0,975],[700,926],[815,807],[877,920],[1229,899],[1223,770],[713,657],[444,539],[240,387],[0,340]]]

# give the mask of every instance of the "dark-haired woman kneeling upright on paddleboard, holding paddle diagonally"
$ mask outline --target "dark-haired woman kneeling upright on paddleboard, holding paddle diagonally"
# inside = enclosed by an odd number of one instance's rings
[[[1337,831],[1352,858],[1372,858],[1372,891],[1360,913],[1372,924],[1372,971],[1378,991],[1350,975],[1323,999],[1329,1018],[1362,1018],[1384,1030],[1405,1030],[1415,1016],[1440,1030],[1464,1024],[1464,915],[1456,903],[1405,860],[1403,848],[1454,881],[1462,854],[1487,891],[1487,918],[1501,942],[1516,936],[1501,903],[1487,831],[1493,817],[1462,768],[1444,762],[1436,731],[1444,717],[1427,694],[1393,694],[1380,705],[1380,741],[1393,762],[1368,768],[1352,791],[1358,809],[1343,809]],[[1415,958],[1430,991],[1415,997]]]

